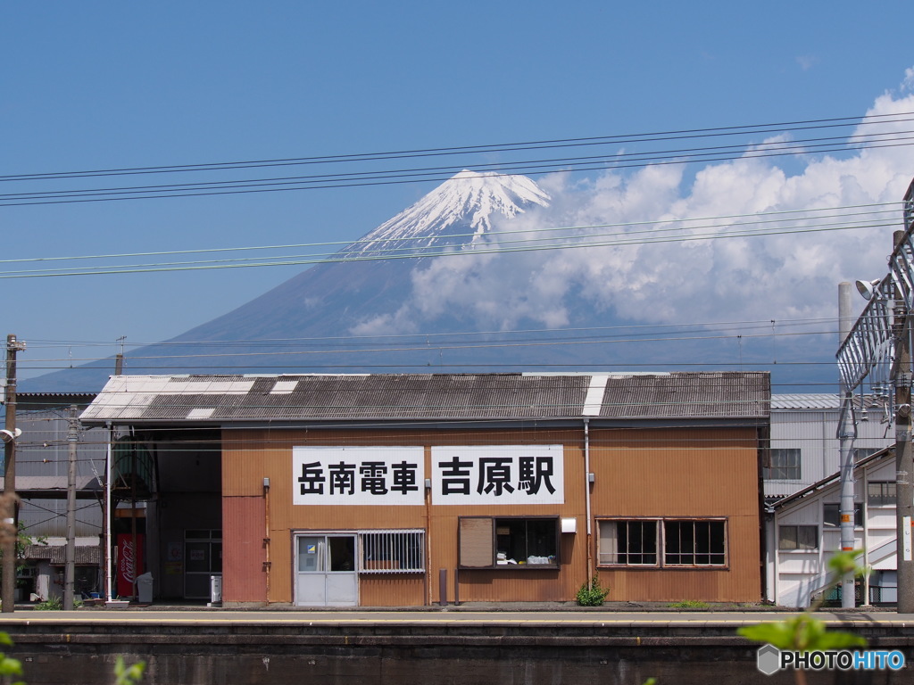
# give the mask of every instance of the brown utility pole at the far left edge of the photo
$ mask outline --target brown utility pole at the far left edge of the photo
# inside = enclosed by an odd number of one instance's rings
[[[4,614],[16,611],[16,437],[21,431],[16,428],[16,353],[25,350],[26,343],[16,340],[13,334],[6,336],[6,424],[4,434],[4,484],[3,506],[0,507],[0,528],[3,530],[2,543],[3,578],[0,581],[0,610]]]

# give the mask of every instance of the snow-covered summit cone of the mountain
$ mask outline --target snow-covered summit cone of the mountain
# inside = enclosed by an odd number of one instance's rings
[[[471,245],[492,230],[495,216],[513,218],[532,205],[548,204],[549,196],[526,176],[464,169],[345,252],[367,255],[383,248],[415,253],[430,246]]]

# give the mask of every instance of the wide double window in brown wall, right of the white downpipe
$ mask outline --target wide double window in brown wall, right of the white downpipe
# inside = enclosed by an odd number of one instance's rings
[[[598,524],[598,562],[603,566],[727,565],[723,519],[604,519]]]

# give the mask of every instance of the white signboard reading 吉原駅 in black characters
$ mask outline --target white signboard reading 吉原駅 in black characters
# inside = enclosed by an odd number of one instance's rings
[[[561,445],[431,448],[433,504],[562,504]]]

